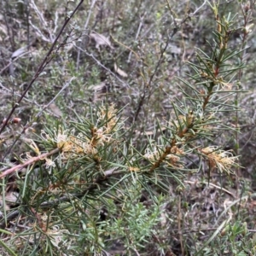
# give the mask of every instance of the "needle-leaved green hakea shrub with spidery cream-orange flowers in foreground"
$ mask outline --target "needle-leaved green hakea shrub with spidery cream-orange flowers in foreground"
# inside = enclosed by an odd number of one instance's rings
[[[170,119],[158,122],[153,135],[127,141],[130,128],[121,110],[103,104],[91,106],[76,122],[45,124],[40,136],[26,140],[30,151],[17,156],[20,165],[0,174],[3,186],[13,175],[20,191],[15,207],[3,210],[2,229],[15,220],[5,250],[12,255],[57,255],[55,249],[62,255],[96,255],[119,238],[125,250],[137,252],[156,237],[154,227],[163,222],[160,196],[170,185],[184,188],[183,179],[201,171],[202,162],[210,174],[217,170],[230,176],[233,167],[239,168],[238,156],[212,145],[211,137],[231,129],[222,118],[237,110],[232,104],[240,90],[235,77],[244,65],[234,60],[243,49],[229,47],[235,17],[220,19],[216,6],[212,9],[217,29],[209,53],[197,49],[197,61],[188,63],[194,74],[177,82],[183,101],[172,102]],[[195,156],[198,168],[191,169],[188,160],[195,162]],[[140,201],[144,191],[156,203],[153,212]],[[113,217],[101,219],[103,208]]]

